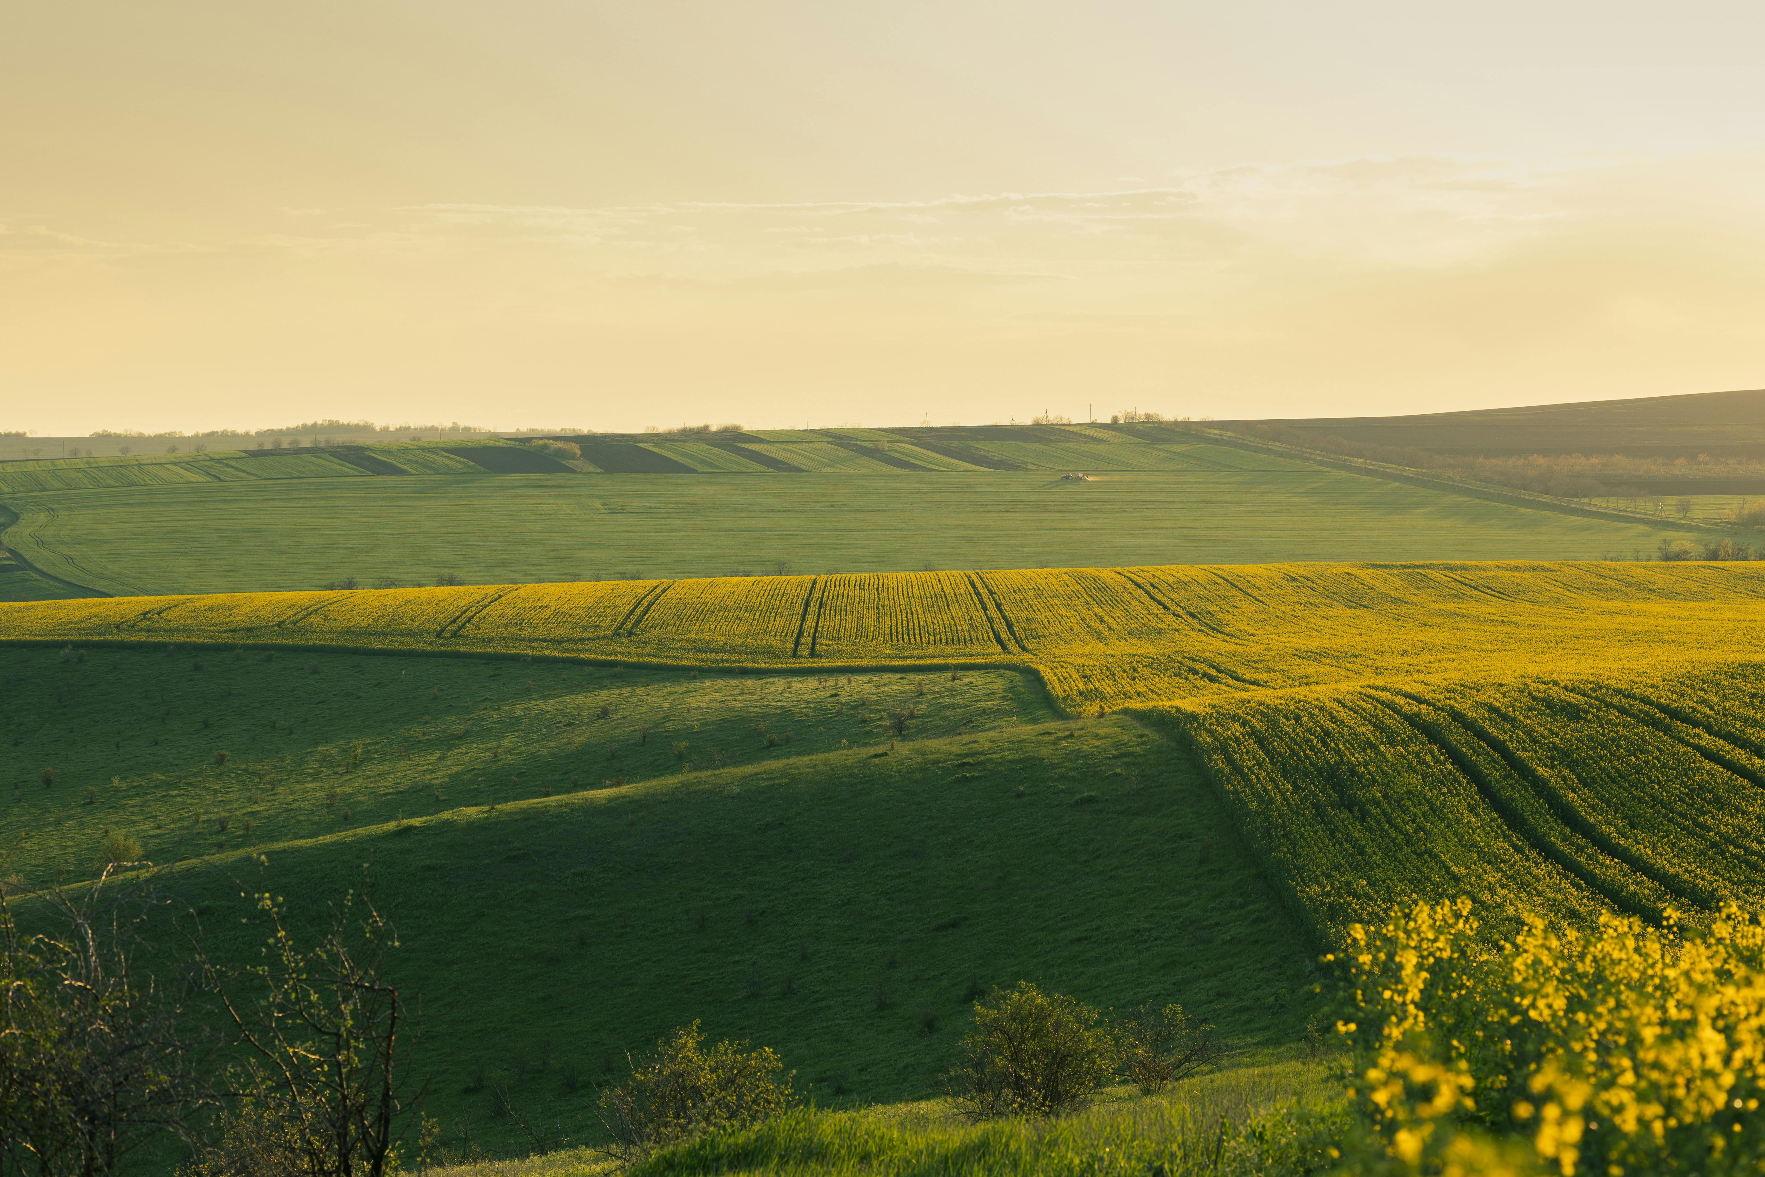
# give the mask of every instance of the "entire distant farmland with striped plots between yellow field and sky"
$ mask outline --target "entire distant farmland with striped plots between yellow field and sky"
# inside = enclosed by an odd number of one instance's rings
[[[1410,448],[1393,452],[1416,466],[1435,459],[1414,445],[1449,438],[1567,445],[1671,434],[1689,445],[1728,431],[1723,436],[1746,448],[1754,445],[1754,401],[1721,394],[1571,406],[1574,413],[1546,406],[1348,420],[1345,429],[1405,441]],[[1677,434],[1664,424],[1679,420],[1673,413],[1691,422]],[[1331,422],[1287,425],[1276,438],[1287,445],[1269,445],[1273,425],[1257,425],[1260,439],[1246,439],[1230,424],[1137,422],[477,438],[0,462],[0,540],[14,566],[0,566],[0,600],[298,589],[349,577],[427,584],[441,574],[471,584],[687,577],[780,565],[872,572],[1634,559],[1721,524],[1701,510],[1679,519],[1664,501],[1620,499],[1606,485],[1613,478],[1663,487],[1689,478],[1698,494],[1740,494],[1735,487],[1758,473],[1733,464],[1740,459],[1666,473],[1657,459],[1601,459],[1599,482],[1580,466],[1536,468],[1528,459],[1513,469],[1410,476],[1401,462],[1303,448],[1359,445],[1317,434]],[[1085,478],[1064,476],[1075,473]],[[1758,476],[1765,487],[1765,473]],[[1604,498],[1550,498],[1566,487]]]

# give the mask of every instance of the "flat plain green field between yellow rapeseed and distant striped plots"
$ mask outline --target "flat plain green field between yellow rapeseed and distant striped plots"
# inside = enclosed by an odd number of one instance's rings
[[[1131,446],[1096,446],[1131,448]],[[1244,452],[1227,450],[1239,459]],[[115,595],[764,572],[1592,559],[1671,524],[1590,519],[1348,473],[462,475],[9,494],[5,544]]]

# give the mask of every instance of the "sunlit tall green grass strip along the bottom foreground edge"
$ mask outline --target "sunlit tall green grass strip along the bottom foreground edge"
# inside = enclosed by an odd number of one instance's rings
[[[1161,1096],[1121,1087],[1057,1121],[971,1124],[948,1101],[856,1112],[800,1108],[750,1129],[678,1145],[630,1170],[697,1173],[865,1173],[939,1177],[1161,1172],[1301,1173],[1329,1168],[1348,1135],[1347,1103],[1322,1062],[1271,1062],[1186,1080]],[[438,1177],[586,1177],[614,1172],[593,1151],[498,1161]]]

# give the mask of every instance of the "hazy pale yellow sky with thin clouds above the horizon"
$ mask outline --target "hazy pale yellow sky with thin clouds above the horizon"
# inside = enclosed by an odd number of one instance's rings
[[[1765,5],[0,2],[0,429],[1765,385]]]

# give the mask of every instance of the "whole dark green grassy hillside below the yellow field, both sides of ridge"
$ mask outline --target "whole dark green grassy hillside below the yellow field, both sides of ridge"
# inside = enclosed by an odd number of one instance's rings
[[[1124,718],[1054,722],[1011,672],[192,662],[4,651],[7,872],[88,877],[101,833],[131,833],[187,859],[175,889],[238,958],[245,893],[312,918],[371,866],[431,1113],[496,1151],[519,1133],[492,1091],[581,1138],[591,1080],[692,1018],[840,1105],[937,1094],[976,983],[1181,1001],[1248,1050],[1310,1009],[1315,949],[1188,761]],[[877,716],[902,702],[897,739]]]

